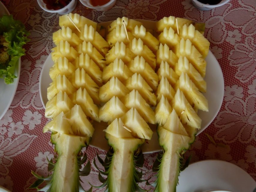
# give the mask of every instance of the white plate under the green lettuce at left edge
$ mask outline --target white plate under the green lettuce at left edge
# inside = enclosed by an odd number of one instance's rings
[[[0,1],[0,16],[6,14],[10,15],[4,4]],[[9,109],[15,95],[20,78],[20,59],[16,66],[14,75],[17,76],[17,78],[14,79],[12,84],[7,85],[5,84],[5,80],[0,78],[0,119],[2,119],[6,111]]]

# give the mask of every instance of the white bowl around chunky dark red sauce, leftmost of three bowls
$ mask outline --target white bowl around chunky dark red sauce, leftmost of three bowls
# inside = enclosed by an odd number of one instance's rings
[[[58,9],[58,10],[53,10],[53,9],[48,9],[46,7],[46,4],[44,3],[43,0],[37,0],[39,6],[49,12],[49,13],[59,13],[60,15],[65,15],[65,14],[68,14],[70,13],[71,11],[73,11],[76,6],[77,6],[77,0],[71,0],[70,3],[68,5],[66,5],[65,7],[61,8],[61,9]]]

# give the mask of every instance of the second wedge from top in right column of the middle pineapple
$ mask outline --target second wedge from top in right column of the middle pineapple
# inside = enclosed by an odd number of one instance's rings
[[[131,51],[139,56],[142,56],[146,62],[155,70],[156,60],[154,53],[149,49],[148,46],[143,45],[143,41],[139,38],[134,38],[131,42]]]

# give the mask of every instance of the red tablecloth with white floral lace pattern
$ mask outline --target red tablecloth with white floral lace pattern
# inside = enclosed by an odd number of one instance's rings
[[[31,41],[25,46],[27,51],[22,57],[16,95],[0,120],[0,185],[11,191],[36,191],[27,190],[35,181],[30,172],[34,170],[47,176],[47,157],[50,159],[54,154],[50,133],[42,133],[49,120],[44,117],[40,100],[39,77],[54,46],[52,33],[59,29],[59,15],[45,12],[35,0],[11,0],[6,7],[15,19],[26,25]],[[96,22],[122,16],[157,21],[170,15],[205,22],[205,37],[224,75],[224,100],[214,121],[197,137],[185,156],[192,155],[191,162],[205,159],[231,162],[256,180],[255,7],[255,0],[230,0],[209,11],[197,10],[190,0],[117,0],[116,5],[105,12],[88,10],[78,2],[73,13]],[[214,145],[206,134],[224,145]],[[97,153],[104,157],[106,151],[89,146],[86,153],[92,163]],[[151,168],[157,154],[144,155],[145,179],[155,174]],[[88,182],[100,184],[93,163],[90,175],[82,181],[85,189],[89,188]]]

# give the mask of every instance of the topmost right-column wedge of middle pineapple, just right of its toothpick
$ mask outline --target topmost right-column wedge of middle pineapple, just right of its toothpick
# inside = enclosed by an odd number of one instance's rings
[[[143,25],[141,25],[140,27],[135,26],[134,29],[132,30],[132,35],[137,39],[140,38],[143,41],[143,43],[146,46],[148,46],[152,52],[156,53],[156,51],[158,50],[158,46],[159,46],[158,39],[155,38],[150,32],[147,32],[146,28]]]

